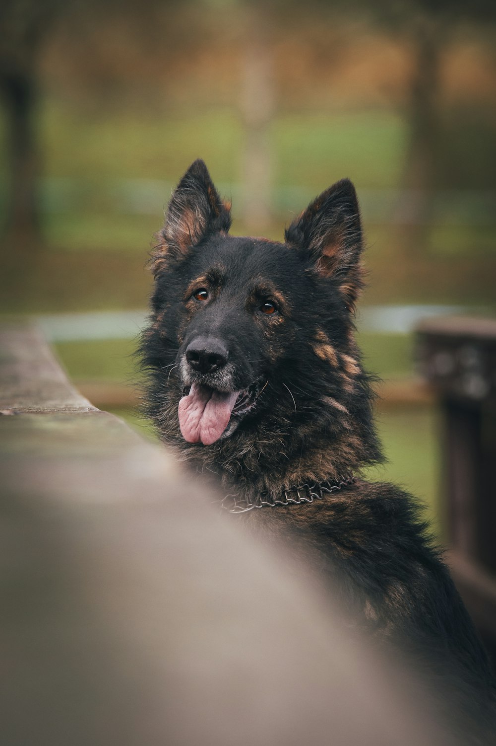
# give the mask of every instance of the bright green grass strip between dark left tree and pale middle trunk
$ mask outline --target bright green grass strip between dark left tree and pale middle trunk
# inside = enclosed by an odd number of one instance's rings
[[[189,163],[203,157],[217,180],[233,181],[242,152],[238,117],[221,108],[164,117],[124,110],[83,113],[48,100],[41,130],[48,176],[176,183]]]

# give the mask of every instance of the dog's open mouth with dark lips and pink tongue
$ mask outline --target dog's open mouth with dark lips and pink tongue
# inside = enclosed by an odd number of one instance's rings
[[[212,445],[232,419],[244,417],[255,406],[260,390],[258,383],[248,389],[228,392],[198,383],[185,386],[178,409],[182,437],[190,443]]]

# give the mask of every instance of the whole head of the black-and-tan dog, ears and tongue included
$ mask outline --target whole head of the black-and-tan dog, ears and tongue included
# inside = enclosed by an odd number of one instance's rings
[[[369,401],[353,339],[362,237],[352,183],[322,192],[285,242],[229,236],[230,222],[230,204],[195,161],[153,254],[143,346],[162,433],[177,439],[180,428],[209,446],[262,419],[307,437],[349,427],[346,416]]]

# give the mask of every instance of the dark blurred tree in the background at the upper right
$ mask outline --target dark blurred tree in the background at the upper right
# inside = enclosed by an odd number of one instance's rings
[[[373,19],[392,34],[401,34],[412,52],[407,88],[409,140],[404,163],[403,193],[395,222],[407,223],[405,251],[425,249],[435,211],[436,190],[445,183],[445,136],[442,122],[441,63],[445,46],[462,22],[485,25],[496,20],[492,0],[377,0]],[[457,157],[457,154],[451,154]]]

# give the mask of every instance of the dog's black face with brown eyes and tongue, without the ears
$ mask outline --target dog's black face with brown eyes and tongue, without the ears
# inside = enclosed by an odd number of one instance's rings
[[[217,234],[178,273],[179,425],[211,445],[260,406],[259,395],[295,343],[305,286],[287,248]],[[186,284],[185,284],[186,282]]]

